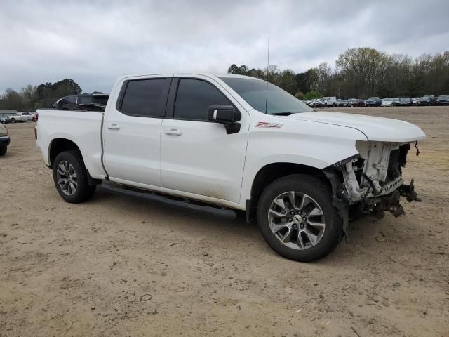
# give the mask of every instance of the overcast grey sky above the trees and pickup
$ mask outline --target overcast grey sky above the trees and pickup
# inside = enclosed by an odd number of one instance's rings
[[[0,0],[0,93],[74,79],[109,92],[123,74],[301,72],[347,48],[417,56],[449,50],[449,0]]]

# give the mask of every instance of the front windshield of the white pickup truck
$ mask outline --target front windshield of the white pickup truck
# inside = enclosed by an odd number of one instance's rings
[[[302,101],[283,91],[278,86],[268,84],[260,79],[244,79],[236,77],[220,77],[236,93],[241,95],[253,109],[267,114],[297,114],[312,112]]]

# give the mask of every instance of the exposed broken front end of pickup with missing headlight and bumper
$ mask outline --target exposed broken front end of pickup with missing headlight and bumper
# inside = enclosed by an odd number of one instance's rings
[[[384,211],[398,217],[403,214],[400,197],[418,200],[413,180],[404,185],[402,168],[406,166],[409,143],[356,142],[358,155],[334,164],[342,173],[337,197],[352,211],[382,217]]]

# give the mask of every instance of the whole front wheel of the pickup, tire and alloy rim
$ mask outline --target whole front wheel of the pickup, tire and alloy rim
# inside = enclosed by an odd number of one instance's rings
[[[342,238],[330,187],[307,175],[286,176],[267,186],[257,204],[257,223],[276,253],[301,262],[323,258]]]

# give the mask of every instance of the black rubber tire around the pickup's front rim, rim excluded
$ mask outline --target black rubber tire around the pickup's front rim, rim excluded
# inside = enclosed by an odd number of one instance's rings
[[[315,246],[302,250],[290,248],[281,243],[270,228],[268,211],[272,201],[280,194],[289,191],[307,194],[319,204],[323,211],[326,227]],[[338,246],[343,234],[342,220],[338,216],[337,209],[332,206],[330,187],[326,181],[302,174],[279,178],[264,189],[257,204],[257,224],[262,236],[276,253],[284,258],[300,262],[309,262],[327,256]]]

